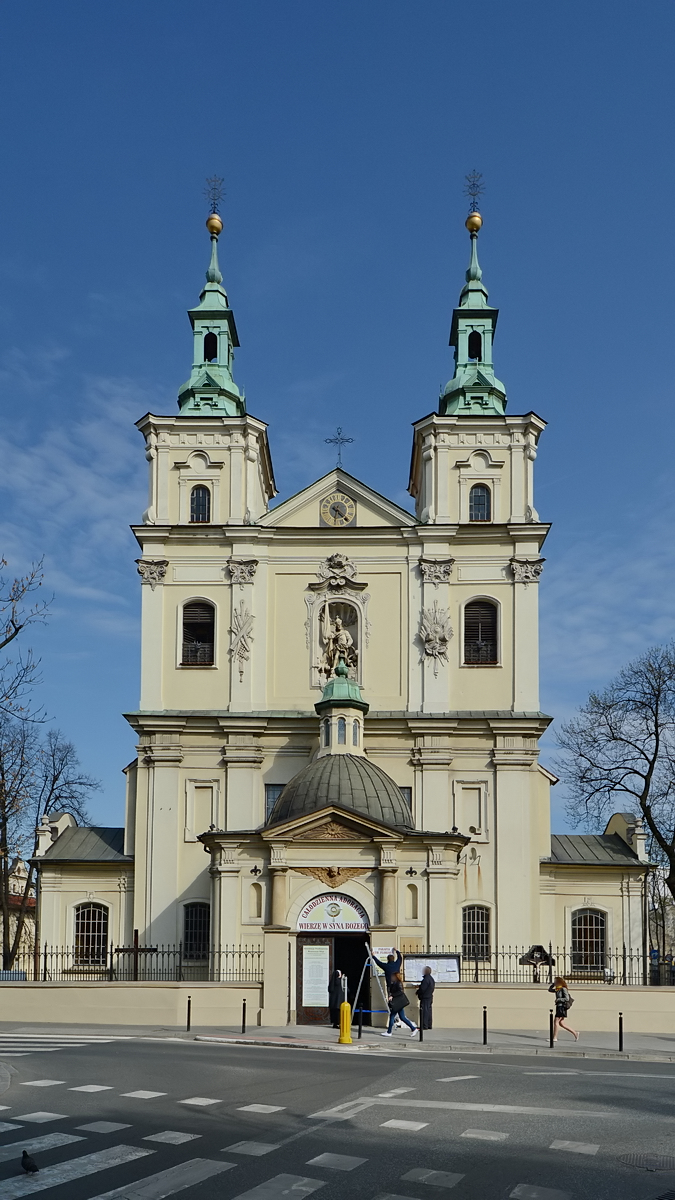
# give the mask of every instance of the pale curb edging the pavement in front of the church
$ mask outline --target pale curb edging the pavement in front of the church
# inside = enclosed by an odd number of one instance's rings
[[[406,1051],[413,1050],[416,1054],[424,1054],[426,1048],[413,1045],[408,1043],[399,1044],[398,1046],[387,1045],[378,1046],[370,1042],[362,1042],[359,1045],[354,1043],[353,1045],[338,1045],[338,1043],[329,1042],[297,1042],[286,1038],[246,1038],[246,1037],[217,1037],[215,1034],[197,1034],[193,1039],[195,1042],[211,1042],[221,1045],[239,1045],[239,1046],[267,1046],[268,1049],[276,1050],[321,1050],[328,1054],[350,1054],[350,1052],[375,1052],[375,1054],[387,1054],[390,1056],[394,1050],[398,1054],[404,1054]],[[599,1058],[599,1060],[619,1060],[620,1062],[675,1062],[675,1054],[671,1055],[655,1055],[655,1054],[639,1054],[632,1050],[550,1050],[548,1046],[537,1049],[528,1046],[473,1046],[471,1044],[464,1045],[435,1045],[432,1049],[429,1048],[430,1054],[477,1054],[477,1055],[506,1055],[510,1057],[512,1055],[524,1058]]]

